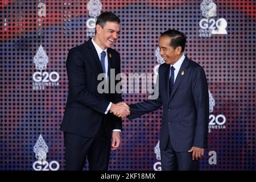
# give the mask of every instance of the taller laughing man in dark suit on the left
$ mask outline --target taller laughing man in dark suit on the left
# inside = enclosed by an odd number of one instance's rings
[[[130,111],[115,104],[122,101],[121,93],[102,93],[98,88],[98,75],[103,74],[109,84],[110,69],[115,75],[120,73],[120,55],[111,48],[119,33],[119,18],[102,13],[94,38],[68,53],[68,100],[60,128],[64,131],[65,170],[82,170],[87,158],[90,170],[105,171],[110,148],[119,147],[122,119],[110,112]]]

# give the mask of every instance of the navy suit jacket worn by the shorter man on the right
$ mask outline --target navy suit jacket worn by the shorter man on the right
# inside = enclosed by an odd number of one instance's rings
[[[182,72],[183,75],[181,75]],[[160,65],[158,73],[159,97],[130,105],[129,119],[159,109],[163,105],[160,149],[166,148],[169,136],[176,152],[188,151],[192,146],[206,148],[209,95],[204,69],[185,56],[171,96],[168,90],[170,64]]]

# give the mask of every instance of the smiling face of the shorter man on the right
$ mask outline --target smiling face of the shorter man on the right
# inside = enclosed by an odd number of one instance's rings
[[[174,64],[182,56],[181,47],[178,46],[176,49],[170,46],[171,38],[168,36],[161,36],[159,38],[159,52],[163,57],[166,64]]]

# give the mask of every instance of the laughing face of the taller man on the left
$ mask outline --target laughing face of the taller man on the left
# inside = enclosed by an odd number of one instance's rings
[[[102,49],[111,48],[120,34],[120,24],[115,22],[106,22],[102,28],[99,24],[96,25],[96,39]]]

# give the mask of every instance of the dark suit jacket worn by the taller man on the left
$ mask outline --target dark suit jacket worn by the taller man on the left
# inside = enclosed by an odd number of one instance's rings
[[[107,52],[108,76],[110,69],[115,69],[117,75],[120,73],[120,55],[111,48]],[[104,113],[110,101],[117,103],[122,101],[122,97],[117,93],[98,93],[97,86],[102,80],[97,80],[97,76],[103,71],[91,39],[69,51],[66,67],[68,100],[60,130],[83,137],[94,137],[102,121],[108,137],[113,129],[121,130],[122,120],[113,114]]]

